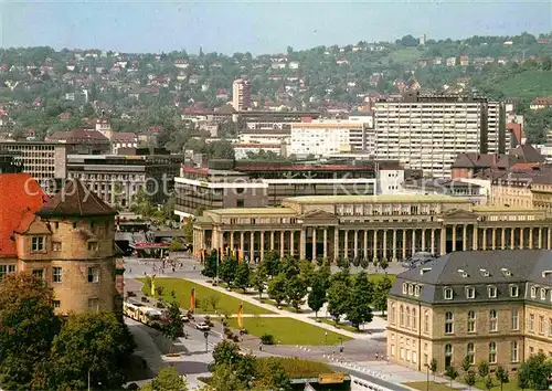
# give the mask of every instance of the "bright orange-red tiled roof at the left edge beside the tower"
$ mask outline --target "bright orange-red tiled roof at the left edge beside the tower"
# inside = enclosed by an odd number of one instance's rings
[[[15,256],[14,231],[21,231],[42,207],[44,192],[29,173],[0,175],[0,257]]]

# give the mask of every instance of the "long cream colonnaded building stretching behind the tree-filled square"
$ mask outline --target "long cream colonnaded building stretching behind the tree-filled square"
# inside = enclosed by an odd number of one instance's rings
[[[193,226],[197,255],[257,260],[268,251],[312,260],[404,260],[416,252],[551,249],[544,210],[474,207],[449,196],[312,196],[282,207],[209,210]]]

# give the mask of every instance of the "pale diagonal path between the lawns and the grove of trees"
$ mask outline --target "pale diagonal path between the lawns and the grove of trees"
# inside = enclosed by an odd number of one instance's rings
[[[352,339],[373,339],[373,338],[381,338],[384,335],[384,331],[373,332],[373,334],[357,334],[357,332],[352,332],[352,331],[348,331],[348,330],[343,330],[343,329],[338,329],[331,325],[327,325],[325,323],[317,323],[315,319],[310,319],[311,317],[314,317],[314,314],[290,313],[290,311],[287,311],[285,309],[278,309],[275,306],[272,306],[269,304],[261,303],[250,295],[244,295],[244,294],[240,294],[240,293],[236,293],[233,290],[227,290],[227,289],[220,287],[220,286],[213,286],[212,284],[206,283],[205,281],[202,281],[202,279],[190,279],[190,281],[192,281],[193,283],[195,283],[198,285],[203,285],[203,286],[209,287],[211,289],[223,293],[225,295],[236,297],[243,302],[254,304],[257,307],[268,309],[268,310],[277,314],[280,317],[288,317],[288,318],[297,319],[297,320],[304,321],[306,324],[318,326],[318,327],[327,329],[329,331],[333,331],[333,332],[340,334],[342,336],[347,336],[347,337],[352,338]],[[261,315],[261,317],[264,317],[264,316],[266,316],[266,315]],[[375,323],[375,325],[374,325],[374,323]],[[383,320],[379,317],[374,317],[374,321],[372,321],[370,325],[367,325],[367,326],[368,327],[365,327],[364,330],[370,330],[370,329],[385,330],[385,320]]]

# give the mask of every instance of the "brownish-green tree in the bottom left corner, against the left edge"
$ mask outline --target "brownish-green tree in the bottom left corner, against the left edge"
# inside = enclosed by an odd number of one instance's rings
[[[45,363],[60,323],[53,292],[28,273],[6,275],[0,283],[0,385],[30,390],[33,373]],[[43,387],[39,387],[43,388]]]

